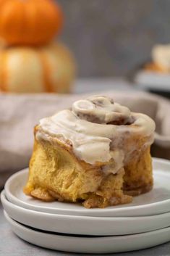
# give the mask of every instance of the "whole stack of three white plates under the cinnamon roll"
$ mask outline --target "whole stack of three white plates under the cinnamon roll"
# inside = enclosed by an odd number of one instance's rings
[[[15,173],[1,193],[4,215],[17,236],[67,252],[127,252],[170,241],[170,162],[153,160],[154,188],[128,205],[85,209],[26,197],[27,169]]]

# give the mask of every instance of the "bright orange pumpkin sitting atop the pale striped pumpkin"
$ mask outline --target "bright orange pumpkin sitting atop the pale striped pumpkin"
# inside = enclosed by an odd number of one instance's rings
[[[62,22],[61,9],[52,0],[0,0],[0,37],[9,45],[46,44]]]

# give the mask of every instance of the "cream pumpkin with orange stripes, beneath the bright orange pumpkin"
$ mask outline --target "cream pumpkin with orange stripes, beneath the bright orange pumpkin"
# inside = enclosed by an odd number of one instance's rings
[[[62,44],[0,49],[0,91],[69,93],[74,78],[74,58]]]

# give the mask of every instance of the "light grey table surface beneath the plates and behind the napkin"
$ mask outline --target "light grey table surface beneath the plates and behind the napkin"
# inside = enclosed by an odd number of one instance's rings
[[[104,86],[103,86],[104,85]],[[134,90],[129,83],[125,83],[122,79],[109,80],[78,80],[75,86],[75,93],[84,93],[91,91],[105,90],[129,91]],[[29,244],[18,238],[10,229],[9,224],[4,218],[1,202],[0,202],[0,256],[52,256],[52,255],[77,255],[69,252],[56,252],[50,249],[43,249]],[[88,254],[81,254],[87,256]],[[109,254],[111,255],[111,254]],[[119,256],[169,256],[170,242],[162,244],[158,247],[143,249],[136,252],[126,252],[113,254]]]

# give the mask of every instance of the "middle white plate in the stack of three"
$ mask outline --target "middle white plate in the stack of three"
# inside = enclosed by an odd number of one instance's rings
[[[137,234],[166,228],[170,212],[146,217],[90,217],[57,215],[27,210],[9,202],[1,193],[4,210],[14,220],[43,231],[90,236],[117,236]]]

